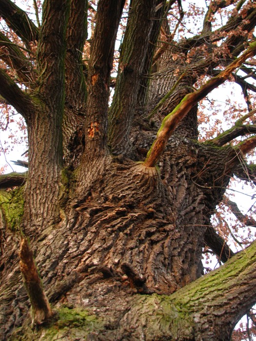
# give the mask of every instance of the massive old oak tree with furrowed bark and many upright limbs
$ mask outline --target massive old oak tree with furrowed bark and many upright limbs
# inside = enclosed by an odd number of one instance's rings
[[[229,340],[256,244],[235,254],[211,215],[232,176],[256,182],[256,3],[207,1],[188,37],[181,1],[33,3],[0,1],[0,102],[28,131],[28,170],[0,177],[2,340]],[[248,112],[198,140],[224,82]]]

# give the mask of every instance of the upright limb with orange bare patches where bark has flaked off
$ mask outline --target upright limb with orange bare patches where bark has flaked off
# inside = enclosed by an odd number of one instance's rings
[[[124,0],[100,0],[89,65],[85,153],[101,152],[107,142],[109,77]]]

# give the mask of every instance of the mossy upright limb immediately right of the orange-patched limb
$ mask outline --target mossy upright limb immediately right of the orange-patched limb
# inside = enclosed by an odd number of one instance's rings
[[[116,91],[109,114],[109,144],[114,153],[123,153],[129,146],[139,79],[144,70],[155,12],[155,0],[134,0],[130,8],[121,48]]]

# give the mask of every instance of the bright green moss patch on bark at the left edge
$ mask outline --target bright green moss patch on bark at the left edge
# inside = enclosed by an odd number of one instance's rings
[[[17,230],[24,213],[23,187],[0,191],[0,209],[8,228]]]

